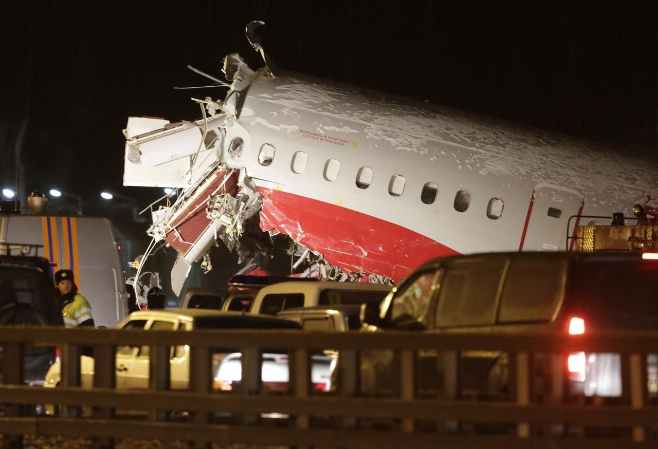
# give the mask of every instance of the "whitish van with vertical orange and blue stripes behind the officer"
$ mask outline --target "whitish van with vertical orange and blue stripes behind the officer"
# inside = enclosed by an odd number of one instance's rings
[[[116,327],[128,316],[119,248],[107,218],[0,214],[0,243],[37,246],[30,255],[49,260],[51,275],[72,270],[97,326]]]

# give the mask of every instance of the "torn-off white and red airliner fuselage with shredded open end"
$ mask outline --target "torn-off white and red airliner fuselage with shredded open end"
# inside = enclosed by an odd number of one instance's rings
[[[255,220],[323,276],[398,281],[434,256],[569,249],[576,214],[655,211],[642,154],[274,70],[247,32],[265,68],[228,55],[201,118],[128,119],[124,185],[177,189],[149,228],[178,251],[175,292],[216,241],[253,252]]]

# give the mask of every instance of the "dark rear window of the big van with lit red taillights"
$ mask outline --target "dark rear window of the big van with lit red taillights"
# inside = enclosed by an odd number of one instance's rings
[[[658,262],[601,260],[576,264],[567,295],[589,329],[658,330]]]

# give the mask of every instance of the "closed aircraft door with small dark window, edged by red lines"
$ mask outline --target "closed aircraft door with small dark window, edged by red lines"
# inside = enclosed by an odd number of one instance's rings
[[[583,198],[576,191],[559,186],[535,187],[528,206],[519,250],[565,250],[569,217],[580,214],[582,206]],[[574,226],[576,220],[571,220],[569,235],[572,235]],[[572,247],[571,243],[569,247]]]

